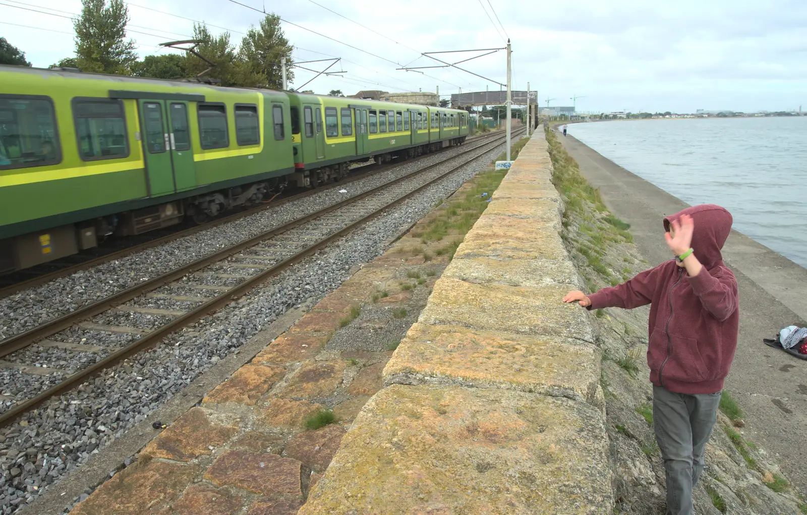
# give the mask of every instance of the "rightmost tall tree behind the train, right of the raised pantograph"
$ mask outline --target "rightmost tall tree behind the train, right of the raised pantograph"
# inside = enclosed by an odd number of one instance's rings
[[[235,65],[235,82],[239,86],[261,86],[279,90],[283,86],[281,57],[286,57],[286,79],[295,74],[288,68],[294,47],[286,40],[278,15],[266,15],[259,27],[249,27],[241,40]],[[204,54],[203,54],[204,55]]]

